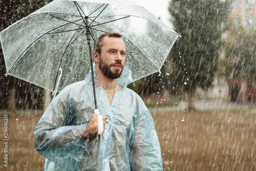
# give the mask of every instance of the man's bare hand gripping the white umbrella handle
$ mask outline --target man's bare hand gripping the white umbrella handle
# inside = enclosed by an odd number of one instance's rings
[[[105,130],[105,127],[106,127],[106,122],[105,122],[106,119],[108,119],[108,118],[102,115],[102,120],[103,120],[103,132],[102,132],[102,134],[104,133],[104,130]],[[86,131],[84,131],[83,139],[92,138],[97,133],[98,133],[98,115],[93,114],[91,119],[89,120],[87,126],[86,126]]]

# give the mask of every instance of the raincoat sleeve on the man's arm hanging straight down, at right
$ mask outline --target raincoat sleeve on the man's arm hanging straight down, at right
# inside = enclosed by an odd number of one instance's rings
[[[131,170],[163,170],[161,149],[153,118],[144,103],[142,107],[136,118],[135,136],[131,146]]]

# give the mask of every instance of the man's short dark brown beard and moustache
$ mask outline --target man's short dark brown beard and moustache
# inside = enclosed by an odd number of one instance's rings
[[[115,70],[115,72],[111,71],[111,67],[113,67],[115,65],[120,65],[121,66],[121,72],[119,72],[119,70]],[[107,76],[111,79],[119,78],[122,74],[122,71],[123,71],[123,65],[120,61],[116,61],[112,65],[107,65],[106,63],[104,63],[101,60],[101,57],[99,57],[99,68],[105,76]]]

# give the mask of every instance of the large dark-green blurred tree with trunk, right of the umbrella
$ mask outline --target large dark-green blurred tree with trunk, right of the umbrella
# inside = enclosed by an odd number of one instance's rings
[[[171,51],[170,87],[187,92],[188,109],[193,109],[197,87],[204,90],[212,87],[228,7],[229,2],[221,0],[171,0],[169,3],[175,31],[182,36]]]

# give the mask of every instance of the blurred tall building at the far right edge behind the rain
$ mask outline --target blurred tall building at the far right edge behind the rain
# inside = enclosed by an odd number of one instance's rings
[[[235,48],[232,49],[234,55],[230,55],[227,65],[228,67],[232,66],[233,70],[241,71],[234,71],[229,75],[228,95],[231,101],[253,102],[256,100],[255,75],[252,74],[251,77],[249,75],[255,68],[252,63],[256,63],[254,37],[256,31],[256,1],[233,0],[231,7],[232,10],[229,14],[231,29],[229,29],[230,36],[228,36],[227,42],[232,48]],[[254,39],[254,46],[253,41],[248,44],[248,37]],[[236,45],[232,45],[232,43]],[[252,44],[251,49],[249,49],[250,44]]]

